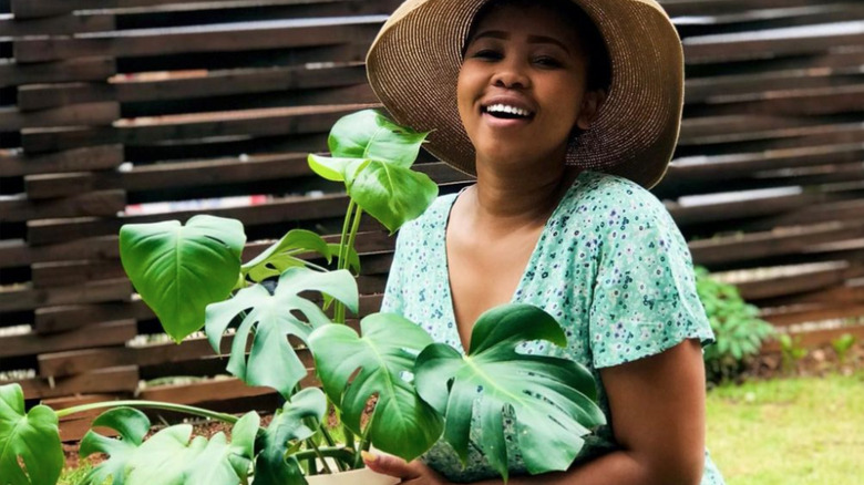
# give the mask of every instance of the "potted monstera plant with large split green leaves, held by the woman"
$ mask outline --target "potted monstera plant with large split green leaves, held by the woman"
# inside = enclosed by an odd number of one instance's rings
[[[181,343],[203,329],[216,352],[232,338],[227,371],[285,399],[266,427],[255,412],[237,417],[148,401],[25,412],[21,388],[4,385],[0,485],[54,484],[63,466],[58,419],[94,409],[107,411],[93,426],[119,437],[91,430],[83,438],[82,456],[107,455],[83,484],[237,485],[254,478],[257,485],[302,485],[362,468],[360,452],[370,446],[413,460],[442,438],[465,460],[472,419],[483,423],[474,445],[506,478],[503,420],[511,411],[527,468],[566,469],[604,416],[587,370],[516,351],[524,341],[565,343],[551,316],[524,305],[492,309],[474,326],[464,355],[433,343],[419,322],[399,314],[369,314],[359,332],[346,324],[347,312],[359,307],[354,241],[361,216],[370,214],[392,233],[438,194],[429,177],[411,169],[425,135],[362,111],[336,123],[330,156],[309,156],[316,173],[343,182],[349,195],[339,244],[296,229],[243,264],[246,236],[237,220],[202,215],[185,225],[121,229],[123,267],[165,332]],[[307,379],[309,353],[320,388]],[[151,422],[142,409],[223,421],[233,426],[230,441],[222,433],[193,437],[188,424],[145,440]],[[346,483],[361,482],[352,476]]]

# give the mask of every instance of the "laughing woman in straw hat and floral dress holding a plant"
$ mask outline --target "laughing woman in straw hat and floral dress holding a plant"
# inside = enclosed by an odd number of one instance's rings
[[[563,326],[566,349],[523,351],[594,372],[616,446],[542,476],[520,476],[514,447],[511,484],[720,484],[704,452],[711,330],[687,245],[645,189],[680,126],[675,29],[652,0],[484,3],[409,1],[369,54],[393,116],[433,130],[430,152],[477,177],[402,229],[382,311],[456,349],[511,301]],[[443,443],[367,464],[414,485],[501,483],[477,451],[463,469]]]

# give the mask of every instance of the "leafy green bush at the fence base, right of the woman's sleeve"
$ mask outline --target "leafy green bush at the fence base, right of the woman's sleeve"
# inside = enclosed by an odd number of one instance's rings
[[[704,268],[696,269],[696,289],[717,338],[704,350],[708,380],[734,379],[759,354],[774,328],[759,318],[759,309],[748,305],[738,288],[711,279]]]

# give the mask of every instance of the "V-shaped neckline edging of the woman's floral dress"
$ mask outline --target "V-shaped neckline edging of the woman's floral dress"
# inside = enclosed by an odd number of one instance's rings
[[[522,270],[522,276],[520,277],[518,282],[516,283],[516,288],[513,290],[513,295],[511,295],[508,302],[513,303],[516,300],[516,297],[522,293],[523,287],[527,283],[527,275],[528,270],[535,266],[537,259],[539,257],[539,247],[541,241],[544,240],[544,237],[546,236],[546,233],[549,230],[549,224],[555,220],[558,216],[558,210],[560,210],[560,207],[564,205],[563,203],[572,196],[573,190],[577,185],[579,185],[579,179],[584,174],[586,174],[587,171],[583,171],[579,173],[579,175],[576,176],[576,178],[573,180],[569,187],[567,187],[567,190],[565,190],[564,195],[562,196],[560,200],[558,200],[558,204],[555,206],[555,209],[549,214],[549,217],[546,218],[546,221],[543,225],[543,229],[541,230],[539,236],[537,236],[537,241],[534,242],[534,249],[531,251],[531,256],[528,257],[528,261],[525,265],[525,268]],[[467,188],[467,187],[465,187]],[[459,351],[462,355],[466,354],[464,345],[462,344],[462,337],[459,334],[459,322],[456,321],[456,307],[453,301],[453,289],[450,285],[450,256],[448,255],[448,227],[450,226],[450,215],[453,211],[453,206],[456,203],[456,199],[465,190],[463,188],[457,194],[453,194],[450,200],[448,200],[448,204],[444,206],[444,217],[442,217],[443,220],[443,227],[441,228],[441,231],[439,234],[439,237],[441,237],[441,244],[439,247],[441,248],[441,254],[436,255],[438,258],[443,262],[443,271],[444,271],[444,318],[446,319],[448,323],[453,323],[453,326],[446,326],[446,331],[451,334],[448,336],[446,340],[450,340],[452,342],[452,347]]]

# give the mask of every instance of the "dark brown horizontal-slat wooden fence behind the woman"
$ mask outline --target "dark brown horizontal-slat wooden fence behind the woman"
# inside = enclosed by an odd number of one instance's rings
[[[864,4],[666,0],[687,103],[655,189],[697,264],[805,344],[864,338]],[[254,257],[294,227],[337,234],[347,199],[312,176],[395,0],[0,0],[0,372],[56,406],[105,396],[274,404],[203,338],[153,337],[117,256],[122,224],[245,223]],[[467,180],[423,156],[442,193]],[[359,237],[362,313],[393,248]],[[754,269],[758,268],[758,269]],[[804,324],[802,327],[802,324]],[[798,327],[794,327],[798,326]],[[160,384],[166,376],[188,383]],[[146,385],[141,385],[145,381]],[[66,438],[82,422],[68,422]]]

